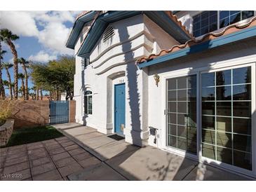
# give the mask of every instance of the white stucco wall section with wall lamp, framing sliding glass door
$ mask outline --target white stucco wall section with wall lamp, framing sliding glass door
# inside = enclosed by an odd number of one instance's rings
[[[149,144],[166,148],[166,79],[186,76],[198,70],[208,70],[215,67],[229,67],[234,64],[246,64],[256,62],[256,39],[241,41],[203,53],[196,53],[179,60],[170,60],[163,64],[149,67],[148,88],[149,88],[149,118],[148,125],[158,129],[157,142],[154,144],[154,136],[149,136]],[[160,82],[156,87],[154,74],[159,74]]]

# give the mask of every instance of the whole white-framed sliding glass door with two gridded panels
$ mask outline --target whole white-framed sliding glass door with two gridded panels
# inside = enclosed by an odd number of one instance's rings
[[[229,166],[233,165],[246,173],[255,172],[252,170],[252,159],[256,157],[252,152],[255,150],[252,144],[255,74],[252,69],[254,66],[247,65],[168,78],[168,149],[190,153],[200,160],[224,163],[224,167],[233,168]]]

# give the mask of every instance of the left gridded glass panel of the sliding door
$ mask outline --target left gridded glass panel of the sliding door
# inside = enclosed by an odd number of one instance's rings
[[[196,154],[196,75],[167,80],[168,146]]]

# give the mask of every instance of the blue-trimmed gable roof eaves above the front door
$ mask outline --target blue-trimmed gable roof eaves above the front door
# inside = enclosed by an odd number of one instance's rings
[[[74,48],[76,39],[81,32],[81,21],[78,21],[82,20],[82,18],[83,20],[93,20],[96,12],[98,11],[88,13],[92,15],[91,17],[88,17],[88,14],[82,15],[76,21],[77,23],[75,23],[72,34],[69,36],[69,40],[67,41],[68,48]],[[178,22],[177,18],[175,18],[175,16],[172,15],[170,11],[107,11],[107,13],[102,13],[101,15],[98,15],[97,18],[95,18],[94,22],[92,22],[92,26],[90,27],[86,38],[83,40],[83,43],[79,48],[77,55],[81,57],[88,57],[88,54],[93,49],[93,46],[95,46],[97,40],[100,39],[100,36],[105,31],[109,23],[123,20],[125,18],[130,18],[138,14],[147,15],[147,17],[149,17],[152,21],[156,22],[159,27],[161,27],[164,31],[170,34],[170,36],[173,36],[173,38],[180,43],[184,43],[191,39],[191,35],[189,34],[189,32],[184,29],[181,22]]]

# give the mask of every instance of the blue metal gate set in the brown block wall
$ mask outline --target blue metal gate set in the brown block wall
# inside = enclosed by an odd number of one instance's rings
[[[50,124],[69,123],[69,101],[50,101]]]

